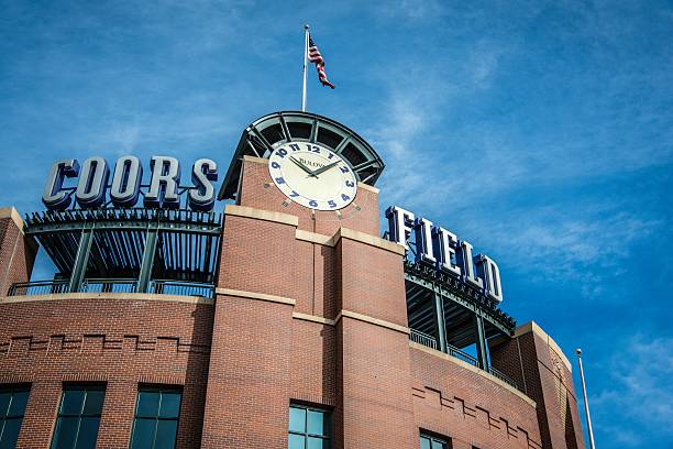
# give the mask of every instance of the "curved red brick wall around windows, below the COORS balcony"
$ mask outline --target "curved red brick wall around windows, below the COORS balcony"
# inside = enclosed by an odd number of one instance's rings
[[[98,448],[129,447],[139,384],[183,387],[178,447],[198,448],[212,309],[150,295],[0,298],[0,385],[31,384],[18,447],[49,446],[64,382],[103,382]]]

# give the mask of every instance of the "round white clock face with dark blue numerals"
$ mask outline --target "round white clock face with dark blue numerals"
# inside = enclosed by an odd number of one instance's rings
[[[339,210],[353,201],[357,178],[336,153],[309,142],[288,142],[268,158],[268,173],[289,199],[317,210]]]

